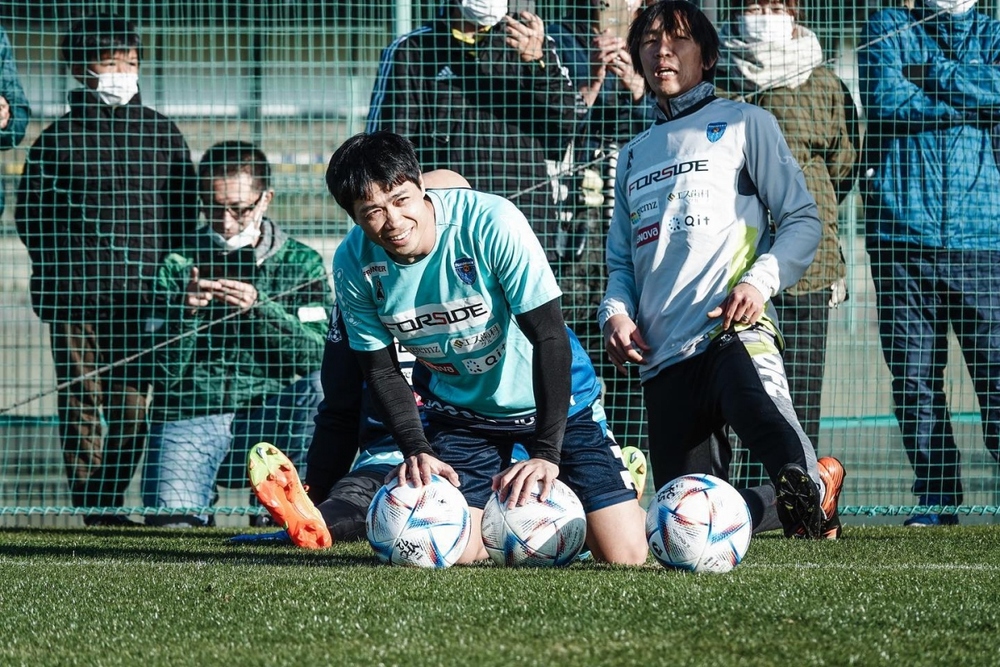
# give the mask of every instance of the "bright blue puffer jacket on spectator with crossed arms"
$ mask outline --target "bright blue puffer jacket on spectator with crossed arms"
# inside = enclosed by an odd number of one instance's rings
[[[932,15],[889,9],[862,32],[868,241],[1000,250],[1000,22]]]

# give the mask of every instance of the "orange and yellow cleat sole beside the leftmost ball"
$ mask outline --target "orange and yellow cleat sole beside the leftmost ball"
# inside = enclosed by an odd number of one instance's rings
[[[333,545],[323,515],[299,480],[295,466],[268,442],[254,445],[247,456],[250,486],[274,521],[288,531],[296,546],[326,549]]]

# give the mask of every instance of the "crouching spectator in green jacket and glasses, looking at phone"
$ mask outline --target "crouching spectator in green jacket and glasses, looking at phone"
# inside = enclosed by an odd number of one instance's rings
[[[151,343],[154,400],[143,473],[148,507],[207,507],[216,483],[247,486],[261,441],[302,463],[323,399],[320,366],[333,298],[318,252],[266,216],[271,166],[224,141],[198,167],[208,226],[160,267]],[[205,525],[207,515],[151,516]]]

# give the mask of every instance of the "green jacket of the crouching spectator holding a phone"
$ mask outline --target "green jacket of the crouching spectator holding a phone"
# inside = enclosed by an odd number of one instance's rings
[[[333,304],[323,258],[270,220],[262,231],[257,247],[225,255],[195,234],[161,265],[147,328],[151,343],[170,342],[153,353],[154,422],[256,407],[320,369]],[[256,305],[224,321],[234,310],[215,302],[192,315],[183,303],[192,266],[201,278],[252,283]]]

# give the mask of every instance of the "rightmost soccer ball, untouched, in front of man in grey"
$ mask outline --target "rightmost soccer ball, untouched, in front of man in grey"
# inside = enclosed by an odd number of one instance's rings
[[[750,510],[739,492],[712,475],[684,475],[656,492],[646,539],[672,569],[729,572],[750,546]]]

